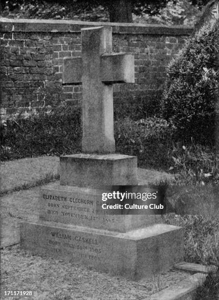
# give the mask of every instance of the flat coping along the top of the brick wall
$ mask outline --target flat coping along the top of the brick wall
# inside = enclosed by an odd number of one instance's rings
[[[190,35],[193,27],[148,25],[139,23],[84,22],[72,20],[0,18],[1,32],[80,32],[81,28],[112,26],[117,34]]]

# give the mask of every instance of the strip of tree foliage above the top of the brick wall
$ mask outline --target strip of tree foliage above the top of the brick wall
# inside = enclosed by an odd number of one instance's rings
[[[189,1],[199,8],[209,2]],[[73,19],[74,15],[79,15],[87,21],[132,22],[132,13],[137,16],[161,15],[169,2],[177,4],[180,0],[1,0],[0,9],[7,8],[9,14],[17,13],[18,17],[25,17],[24,11],[30,11],[30,18],[35,15],[44,19]]]

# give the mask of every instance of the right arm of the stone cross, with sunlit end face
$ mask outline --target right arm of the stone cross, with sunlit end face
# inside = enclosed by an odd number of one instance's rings
[[[104,83],[135,82],[134,55],[106,53],[101,56],[101,79]]]

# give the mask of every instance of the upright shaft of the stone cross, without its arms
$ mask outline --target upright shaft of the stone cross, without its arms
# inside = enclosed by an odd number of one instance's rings
[[[112,28],[81,30],[82,42],[82,152],[113,153],[113,86],[102,83],[100,56],[112,52]]]

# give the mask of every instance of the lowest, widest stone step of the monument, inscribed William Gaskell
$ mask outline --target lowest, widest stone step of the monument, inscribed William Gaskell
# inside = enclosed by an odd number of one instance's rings
[[[183,229],[170,225],[118,233],[52,222],[21,223],[21,247],[131,279],[168,270],[183,258]]]

